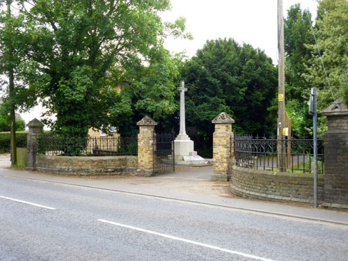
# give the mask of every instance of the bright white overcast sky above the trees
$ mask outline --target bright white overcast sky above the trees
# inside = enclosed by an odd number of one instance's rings
[[[167,49],[186,50],[189,57],[202,49],[207,40],[233,38],[260,48],[278,64],[278,1],[277,0],[171,0],[172,10],[162,15],[164,21],[177,17],[187,19],[187,31],[194,40],[168,39]],[[301,10],[310,10],[312,19],[317,14],[316,0],[283,0],[283,13],[295,3]]]

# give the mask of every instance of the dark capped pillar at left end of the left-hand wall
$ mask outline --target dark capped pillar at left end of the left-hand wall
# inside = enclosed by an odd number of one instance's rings
[[[43,124],[37,118],[31,120],[26,126],[29,132],[26,135],[26,169],[35,171],[36,153],[38,152],[38,134],[42,133]]]

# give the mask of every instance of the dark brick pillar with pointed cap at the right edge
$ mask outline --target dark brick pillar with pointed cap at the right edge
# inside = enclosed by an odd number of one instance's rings
[[[342,97],[322,114],[324,135],[324,206],[348,208],[348,109]]]

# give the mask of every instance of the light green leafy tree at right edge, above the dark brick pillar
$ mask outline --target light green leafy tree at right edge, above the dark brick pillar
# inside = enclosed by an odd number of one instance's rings
[[[343,96],[348,81],[348,1],[321,0],[315,24],[317,44],[308,45],[312,52],[308,72],[303,74],[308,83],[318,90],[318,111],[326,109],[333,100]],[[319,52],[320,56],[319,56]],[[323,65],[325,70],[323,68]],[[327,75],[327,78],[326,78]],[[319,118],[318,135],[327,127]]]

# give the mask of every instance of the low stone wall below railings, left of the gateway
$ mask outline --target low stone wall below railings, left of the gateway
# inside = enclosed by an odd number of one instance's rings
[[[64,175],[126,175],[134,174],[137,168],[136,156],[109,157],[36,157],[36,171]]]

